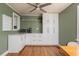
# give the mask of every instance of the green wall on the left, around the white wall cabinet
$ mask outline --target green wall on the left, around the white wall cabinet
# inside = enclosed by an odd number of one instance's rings
[[[0,3],[0,54],[4,53],[8,49],[8,34],[15,33],[12,31],[2,31],[2,15],[6,14],[12,17],[12,13],[13,10],[11,8],[9,8],[6,4]]]

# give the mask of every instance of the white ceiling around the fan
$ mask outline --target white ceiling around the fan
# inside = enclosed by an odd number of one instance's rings
[[[42,3],[43,4],[43,3]],[[43,7],[45,11],[48,13],[60,13],[63,11],[65,8],[67,8],[71,3],[52,3],[49,6]],[[40,10],[35,10],[33,12],[29,12],[35,7],[28,5],[27,3],[8,3],[7,4],[9,7],[14,9],[16,12],[18,12],[20,15],[39,15],[43,12]]]

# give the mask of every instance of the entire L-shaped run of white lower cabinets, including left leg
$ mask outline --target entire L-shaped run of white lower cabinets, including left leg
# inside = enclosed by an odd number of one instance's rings
[[[25,45],[58,45],[58,39],[45,34],[15,34],[8,36],[8,51],[19,52]]]

